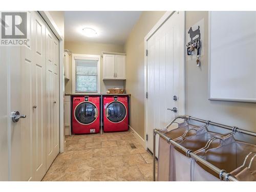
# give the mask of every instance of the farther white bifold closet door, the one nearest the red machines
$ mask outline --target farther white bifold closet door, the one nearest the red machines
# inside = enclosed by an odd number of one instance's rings
[[[46,28],[46,90],[47,90],[47,126],[46,126],[46,151],[47,169],[59,153],[59,41]]]

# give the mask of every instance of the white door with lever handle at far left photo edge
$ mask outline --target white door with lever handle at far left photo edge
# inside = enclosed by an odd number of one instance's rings
[[[25,115],[21,105],[21,66],[19,47],[0,47],[0,180],[20,181],[21,123],[12,121],[12,112]]]

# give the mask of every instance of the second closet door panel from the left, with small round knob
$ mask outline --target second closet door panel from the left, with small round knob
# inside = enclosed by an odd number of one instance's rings
[[[34,19],[33,65],[33,180],[41,180],[46,173],[46,47],[45,24],[38,14]]]

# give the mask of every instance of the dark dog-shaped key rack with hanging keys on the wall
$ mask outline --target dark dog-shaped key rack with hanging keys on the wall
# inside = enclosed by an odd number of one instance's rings
[[[190,37],[190,42],[187,44],[187,55],[192,55],[193,51],[197,50],[197,67],[200,66],[200,49],[201,49],[201,32],[200,32],[200,26],[198,26],[198,29],[193,31],[192,27],[187,32]],[[197,38],[193,39],[195,36]]]

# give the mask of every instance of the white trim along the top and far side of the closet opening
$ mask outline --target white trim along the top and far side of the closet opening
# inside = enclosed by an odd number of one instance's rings
[[[54,22],[49,11],[38,11],[45,20],[54,35],[59,40],[59,152],[64,152],[65,126],[64,126],[64,35],[61,34],[59,28]],[[61,128],[62,127],[62,128]]]

